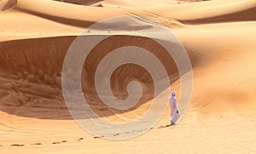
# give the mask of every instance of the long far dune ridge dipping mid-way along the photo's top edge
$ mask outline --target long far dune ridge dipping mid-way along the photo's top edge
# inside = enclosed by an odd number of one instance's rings
[[[218,7],[214,4],[218,3]],[[67,10],[62,12],[63,8]],[[185,3],[169,7],[155,7],[154,9],[129,9],[119,8],[94,8],[69,3],[51,2],[49,0],[34,3],[32,0],[23,0],[17,4],[17,9],[29,14],[35,14],[48,20],[54,20],[67,25],[87,27],[93,23],[113,18],[120,15],[137,14],[159,22],[167,22],[166,25],[173,27],[174,24],[183,23],[200,24],[211,22],[228,22],[239,20],[255,20],[256,3],[254,1],[235,1],[232,5],[228,1],[212,1],[204,3]],[[45,11],[47,8],[47,11]],[[162,11],[165,10],[165,11]],[[167,12],[166,12],[167,11]],[[204,12],[204,14],[201,14]],[[86,14],[86,15],[85,15]],[[169,15],[168,15],[169,14]],[[168,20],[176,20],[168,23]]]

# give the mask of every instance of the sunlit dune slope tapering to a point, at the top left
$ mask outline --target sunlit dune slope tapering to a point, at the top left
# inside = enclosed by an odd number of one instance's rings
[[[67,25],[81,27],[88,27],[99,20],[125,15],[124,12],[116,9],[87,7],[50,0],[37,3],[33,0],[22,0],[19,1],[16,9]],[[63,11],[63,9],[66,9],[66,11]]]

